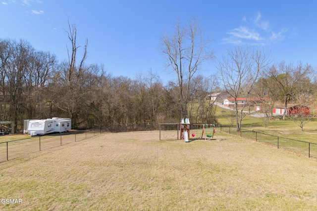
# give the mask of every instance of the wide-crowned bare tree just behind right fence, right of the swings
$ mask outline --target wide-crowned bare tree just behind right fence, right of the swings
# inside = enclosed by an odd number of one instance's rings
[[[234,98],[234,110],[236,116],[237,131],[241,129],[243,109],[247,105],[248,98],[259,73],[270,63],[269,54],[263,50],[251,50],[249,47],[235,47],[218,60],[217,69],[220,73],[220,81],[227,94]],[[237,98],[243,98],[244,103],[238,107]]]

